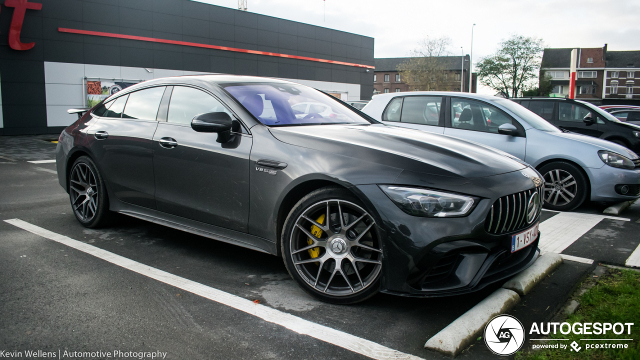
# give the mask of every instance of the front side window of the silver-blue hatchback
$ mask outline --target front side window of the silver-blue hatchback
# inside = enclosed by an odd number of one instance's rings
[[[452,127],[497,134],[502,124],[517,126],[511,117],[494,106],[469,99],[451,99]]]

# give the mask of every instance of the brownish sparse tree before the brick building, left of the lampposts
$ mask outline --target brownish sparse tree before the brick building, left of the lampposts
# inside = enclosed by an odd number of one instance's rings
[[[413,89],[421,91],[456,89],[454,74],[445,69],[445,64],[439,56],[449,56],[451,38],[426,37],[420,40],[418,47],[410,53],[411,58],[398,65],[397,70],[404,83]]]

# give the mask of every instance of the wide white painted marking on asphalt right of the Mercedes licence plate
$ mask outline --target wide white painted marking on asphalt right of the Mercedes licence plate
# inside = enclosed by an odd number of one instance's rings
[[[561,253],[580,236],[586,234],[603,219],[631,221],[628,218],[583,213],[558,213],[540,223],[540,250]]]

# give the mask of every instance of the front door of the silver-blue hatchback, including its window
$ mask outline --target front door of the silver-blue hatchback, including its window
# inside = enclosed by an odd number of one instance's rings
[[[486,102],[458,97],[451,97],[449,102],[451,111],[444,135],[495,147],[524,160],[527,138],[524,128],[515,119]],[[520,135],[499,134],[498,127],[502,124],[513,124],[520,130]]]

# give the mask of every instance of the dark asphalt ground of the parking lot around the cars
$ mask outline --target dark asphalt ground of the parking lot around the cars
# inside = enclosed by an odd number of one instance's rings
[[[124,216],[111,227],[85,229],[58,184],[55,163],[29,162],[54,159],[56,145],[45,141],[52,137],[0,138],[0,349],[158,351],[166,359],[366,359],[366,350],[348,348],[372,342],[398,357],[445,359],[425,350],[425,341],[500,287],[440,299],[380,294],[337,306],[300,290],[282,260],[268,254]],[[571,260],[511,310],[525,328],[551,318],[598,262],[625,265],[640,245],[640,204],[618,217],[602,215],[605,207],[543,211],[541,249]],[[122,256],[142,270],[4,221],[9,219]],[[211,300],[149,277],[148,268],[234,296],[227,303]],[[242,299],[335,329],[343,339],[319,340],[266,321],[236,307]],[[458,358],[495,357],[477,343]]]

